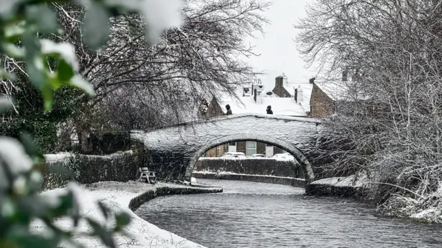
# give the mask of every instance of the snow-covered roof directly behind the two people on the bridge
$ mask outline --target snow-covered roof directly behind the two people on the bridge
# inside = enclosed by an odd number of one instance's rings
[[[224,112],[226,112],[226,104],[229,104],[233,115],[245,113],[265,114],[267,106],[270,105],[273,115],[307,116],[304,108],[300,104],[296,104],[292,97],[265,97],[264,94],[260,104],[255,102],[253,96],[238,98],[239,100],[234,96],[224,96],[218,103]]]

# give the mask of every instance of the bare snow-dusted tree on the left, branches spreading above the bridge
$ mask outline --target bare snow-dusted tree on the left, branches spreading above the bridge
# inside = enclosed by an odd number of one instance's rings
[[[148,128],[192,120],[202,102],[249,82],[257,72],[240,57],[255,54],[244,38],[262,32],[269,5],[256,0],[184,1],[184,25],[164,31],[155,46],[145,41],[140,15],[113,18],[106,46],[93,52],[81,40],[84,8],[55,4],[64,30],[57,39],[75,44],[79,72],[97,92],[93,99],[80,98],[84,108],[73,122],[79,140],[104,126]]]

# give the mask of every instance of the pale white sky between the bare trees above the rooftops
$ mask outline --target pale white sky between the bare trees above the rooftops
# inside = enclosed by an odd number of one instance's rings
[[[305,6],[309,0],[273,0],[273,5],[265,12],[270,23],[264,26],[265,34],[249,38],[247,44],[256,46],[253,50],[259,57],[251,57],[246,61],[256,68],[264,70],[266,75],[260,75],[267,90],[275,86],[275,77],[285,73],[289,82],[308,82],[316,75],[305,68],[296,50],[294,38],[297,30],[293,25],[300,17],[305,17]]]

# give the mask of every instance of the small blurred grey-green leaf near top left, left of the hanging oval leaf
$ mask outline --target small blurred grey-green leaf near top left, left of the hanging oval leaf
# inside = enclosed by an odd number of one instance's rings
[[[57,15],[43,4],[26,6],[28,21],[37,24],[39,32],[46,34],[57,32]]]

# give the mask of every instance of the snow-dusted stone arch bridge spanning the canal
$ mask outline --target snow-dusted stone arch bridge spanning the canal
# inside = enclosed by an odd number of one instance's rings
[[[320,121],[278,115],[229,115],[195,122],[132,131],[144,143],[148,166],[160,178],[191,181],[193,166],[206,151],[227,142],[258,141],[288,151],[304,170],[306,182],[314,180],[309,151],[314,149]]]

